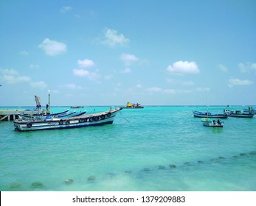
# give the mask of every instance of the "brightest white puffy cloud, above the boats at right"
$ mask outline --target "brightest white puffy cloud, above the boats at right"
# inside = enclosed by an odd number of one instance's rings
[[[178,61],[173,63],[173,65],[168,65],[167,71],[171,74],[198,74],[199,68],[195,62],[187,62],[187,61]]]

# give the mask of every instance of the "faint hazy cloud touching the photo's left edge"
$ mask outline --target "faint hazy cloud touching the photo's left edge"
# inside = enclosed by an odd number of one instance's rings
[[[0,76],[0,78],[6,82],[7,84],[15,84],[19,82],[30,82],[31,78],[20,75],[18,71],[15,71],[13,68],[12,69],[1,69],[1,73],[3,74]]]

